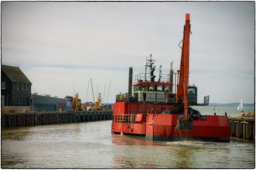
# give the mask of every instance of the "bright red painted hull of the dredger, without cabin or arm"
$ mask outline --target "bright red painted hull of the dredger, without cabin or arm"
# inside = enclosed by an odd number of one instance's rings
[[[137,106],[135,106],[137,105]],[[148,114],[142,117],[145,108],[165,110],[166,107],[172,107],[167,104],[155,104],[154,107],[146,107],[141,103],[115,103],[112,123],[112,132],[144,135],[151,140],[179,140],[180,138],[199,138],[201,140],[211,141],[229,141],[229,121],[226,116],[205,115],[205,120],[193,120],[193,129],[191,131],[179,131],[176,128],[179,114]],[[166,106],[165,106],[166,105]],[[116,107],[115,107],[116,106]],[[116,109],[119,108],[119,109]],[[120,112],[123,110],[123,112]],[[129,110],[133,110],[130,112]],[[119,112],[118,112],[119,111]],[[123,115],[118,118],[118,115]],[[133,117],[124,117],[126,114],[135,114]],[[143,120],[143,118],[145,118]]]

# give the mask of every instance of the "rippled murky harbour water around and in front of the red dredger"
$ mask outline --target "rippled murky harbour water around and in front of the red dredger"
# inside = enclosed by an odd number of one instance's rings
[[[253,141],[150,141],[111,123],[2,129],[1,168],[255,168]]]

